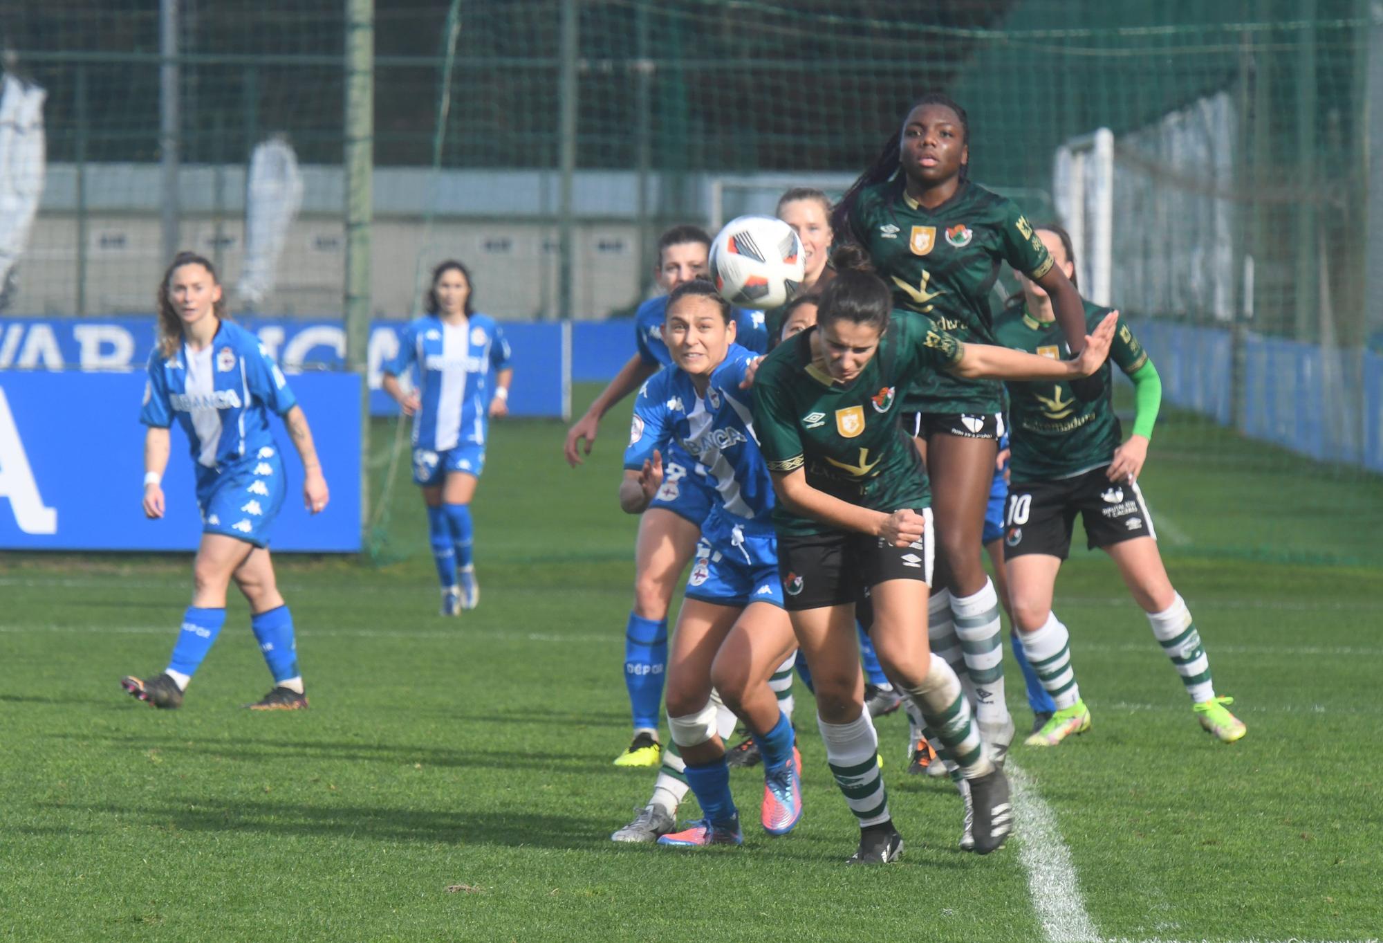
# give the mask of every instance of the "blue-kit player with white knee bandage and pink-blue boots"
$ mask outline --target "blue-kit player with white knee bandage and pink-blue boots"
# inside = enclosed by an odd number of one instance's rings
[[[667,682],[668,727],[704,817],[671,834],[667,810],[661,823],[640,821],[654,812],[650,805],[614,838],[647,841],[661,832],[662,845],[737,845],[739,812],[712,690],[744,720],[763,756],[763,828],[786,834],[802,813],[792,725],[769,687],[797,639],[777,574],[773,484],[743,389],[757,355],[734,343],[730,306],[707,281],[672,292],[664,337],[675,365],[650,379],[635,402],[620,506],[632,514],[649,507],[664,484],[662,452],[674,444],[705,469],[711,507],[678,614]],[[643,835],[628,835],[636,831]]]

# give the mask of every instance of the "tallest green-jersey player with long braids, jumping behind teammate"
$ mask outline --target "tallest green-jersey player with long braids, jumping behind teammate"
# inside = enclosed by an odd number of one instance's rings
[[[846,191],[833,223],[862,245],[895,307],[928,315],[963,342],[994,343],[989,295],[1007,261],[1043,285],[1070,348],[1080,350],[1080,296],[1011,200],[969,180],[965,109],[946,95],[918,98],[874,165]],[[999,596],[981,563],[1003,400],[999,383],[928,373],[903,409],[936,494],[938,583],[931,600],[936,651],[961,653],[985,741],[1003,756],[1014,736],[1004,704]],[[904,424],[907,420],[904,420]],[[949,590],[949,592],[947,592]]]

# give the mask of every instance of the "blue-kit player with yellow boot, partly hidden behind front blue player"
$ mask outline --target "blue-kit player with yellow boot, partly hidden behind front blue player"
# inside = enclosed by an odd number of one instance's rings
[[[697,225],[675,225],[658,238],[658,286],[672,292],[707,274],[711,236]],[[591,454],[600,418],[660,368],[672,364],[662,340],[668,296],[649,299],[635,314],[633,357],[595,398],[586,413],[567,431],[567,462],[581,465],[582,442]],[[737,343],[757,353],[768,350],[763,312],[734,311]],[[662,704],[662,669],[668,654],[668,608],[678,578],[696,549],[701,521],[711,509],[705,470],[679,447],[662,455],[662,487],[639,521],[635,546],[633,608],[625,624],[624,680],[633,715],[633,740],[615,758],[615,766],[657,766],[658,709]]]

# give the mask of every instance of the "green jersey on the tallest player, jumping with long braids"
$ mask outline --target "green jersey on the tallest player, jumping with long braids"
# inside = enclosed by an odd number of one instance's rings
[[[1000,263],[1041,278],[1051,254],[1017,203],[978,184],[961,184],[935,209],[903,192],[902,176],[866,188],[851,209],[855,239],[893,289],[893,306],[925,314],[963,342],[994,343],[989,296]],[[914,412],[993,413],[1001,384],[929,373],[904,395]]]

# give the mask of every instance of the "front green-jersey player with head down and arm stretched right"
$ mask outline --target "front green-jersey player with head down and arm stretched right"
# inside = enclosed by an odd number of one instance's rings
[[[1012,825],[1008,783],[983,748],[960,680],[927,647],[931,494],[899,424],[899,391],[932,371],[1087,376],[1113,330],[1101,325],[1077,361],[1051,361],[963,343],[891,310],[875,275],[838,271],[822,292],[816,328],[780,344],[754,377],[755,429],[779,498],[784,603],[815,679],[827,760],[860,824],[851,859],[860,863],[892,861],[902,850],[878,774],[878,734],[863,707],[855,600],[866,590],[880,662],[920,704],[968,783],[974,849],[1000,848]]]

